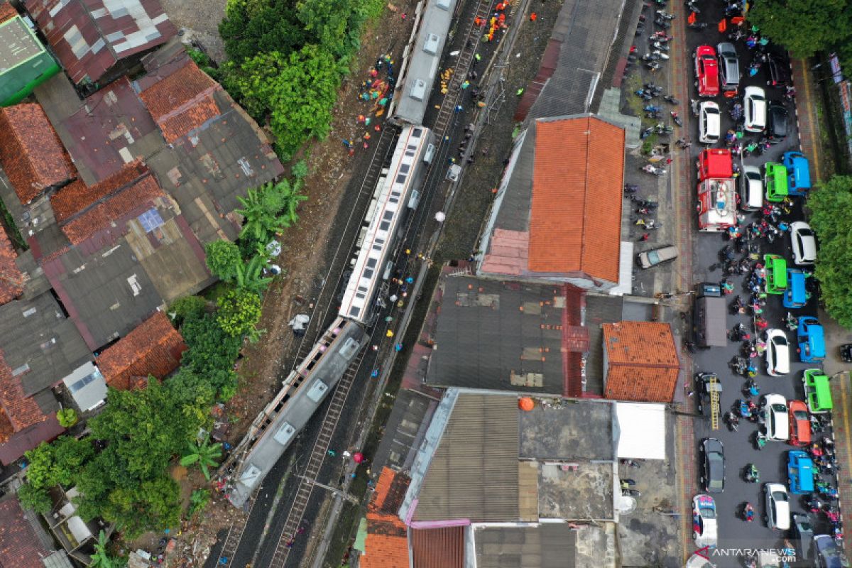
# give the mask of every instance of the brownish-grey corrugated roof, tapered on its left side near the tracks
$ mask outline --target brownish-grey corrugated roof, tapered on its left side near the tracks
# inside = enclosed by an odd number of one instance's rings
[[[517,404],[514,396],[459,393],[413,520],[519,518]]]

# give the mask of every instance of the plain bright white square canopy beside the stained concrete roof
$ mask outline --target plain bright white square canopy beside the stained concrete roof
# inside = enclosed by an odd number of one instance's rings
[[[665,460],[665,404],[615,404],[616,453],[620,458]]]

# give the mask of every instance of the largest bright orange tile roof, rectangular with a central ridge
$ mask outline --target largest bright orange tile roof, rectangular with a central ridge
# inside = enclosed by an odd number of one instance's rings
[[[529,269],[619,280],[625,132],[599,118],[538,120]]]

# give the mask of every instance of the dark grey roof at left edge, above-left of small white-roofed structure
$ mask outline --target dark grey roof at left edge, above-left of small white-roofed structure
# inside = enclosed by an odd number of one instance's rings
[[[49,293],[0,306],[0,349],[13,372],[26,365],[20,376],[26,396],[53,386],[92,359],[83,337]]]

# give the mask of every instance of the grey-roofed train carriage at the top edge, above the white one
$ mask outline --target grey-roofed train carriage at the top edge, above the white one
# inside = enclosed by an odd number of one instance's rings
[[[441,8],[438,4],[446,6]],[[429,106],[429,97],[435,86],[435,76],[438,73],[440,55],[446,43],[446,34],[450,30],[452,13],[456,9],[456,0],[429,0],[426,9],[420,19],[420,31],[417,32],[417,41],[414,43],[412,54],[408,60],[405,75],[400,77],[399,88],[394,93],[396,108],[393,117],[402,122],[420,124],[423,123],[423,115]],[[427,43],[430,36],[438,37],[438,46],[435,55],[423,51],[423,45]],[[411,92],[415,83],[422,81],[423,98],[417,100],[412,98]]]

